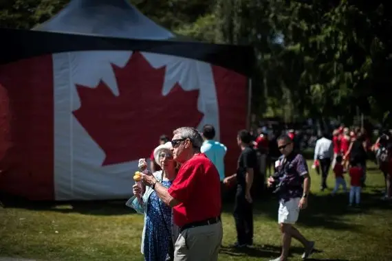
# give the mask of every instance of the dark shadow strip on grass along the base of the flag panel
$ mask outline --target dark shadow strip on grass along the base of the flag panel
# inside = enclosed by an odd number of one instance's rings
[[[111,216],[135,214],[125,205],[127,200],[117,201],[28,201],[10,195],[0,195],[4,208],[21,208],[31,210],[53,211],[60,213],[79,213],[85,215]]]

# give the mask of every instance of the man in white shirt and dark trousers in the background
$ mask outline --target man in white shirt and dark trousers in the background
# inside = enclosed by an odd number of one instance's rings
[[[314,161],[319,161],[322,173],[321,191],[327,188],[327,176],[331,166],[331,159],[333,158],[334,145],[331,139],[328,139],[327,133],[323,133],[322,137],[316,141],[316,147],[314,148]]]

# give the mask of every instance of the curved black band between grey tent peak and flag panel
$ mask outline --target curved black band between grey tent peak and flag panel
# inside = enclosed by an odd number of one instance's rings
[[[200,60],[251,76],[254,52],[250,46],[192,41],[140,40],[85,34],[0,28],[0,64],[61,52],[132,50]]]

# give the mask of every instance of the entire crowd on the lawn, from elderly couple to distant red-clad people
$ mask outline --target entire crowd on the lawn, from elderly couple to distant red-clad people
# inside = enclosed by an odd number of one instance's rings
[[[307,207],[311,178],[307,163],[296,146],[294,132],[276,136],[276,151],[265,133],[254,137],[249,131],[239,131],[237,144],[241,148],[237,172],[226,177],[224,157],[227,148],[215,141],[215,128],[208,124],[202,133],[182,127],[173,132],[171,140],[160,137],[160,145],[151,153],[153,172],[142,174],[143,186],[133,186],[133,197],[127,205],[144,214],[141,252],[145,260],[217,260],[223,238],[221,223],[221,190],[235,183],[233,216],[237,242],[230,247],[253,245],[254,177],[260,174],[260,155],[266,167],[272,163],[268,187],[279,198],[278,223],[282,235],[281,256],[273,261],[285,261],[292,238],[304,247],[302,258],[314,250],[315,242],[296,229],[301,209]],[[392,139],[383,132],[371,144],[363,130],[338,128],[329,137],[323,134],[316,141],[314,166],[322,175],[320,189],[327,188],[329,168],[335,173],[332,194],[342,186],[347,191],[343,174],[351,177],[349,204],[360,203],[360,190],[366,181],[367,154],[374,152],[386,180],[385,199],[391,199]]]

